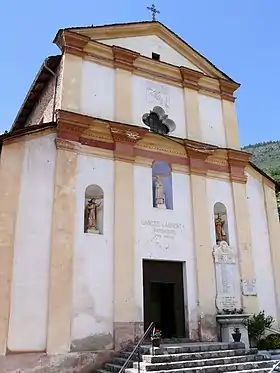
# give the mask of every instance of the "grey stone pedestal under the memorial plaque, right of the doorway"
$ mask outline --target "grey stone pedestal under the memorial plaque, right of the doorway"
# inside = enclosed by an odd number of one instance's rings
[[[241,342],[245,348],[250,348],[248,330],[244,325],[244,320],[247,320],[251,315],[234,314],[234,315],[217,315],[216,319],[221,328],[222,342],[234,343],[232,333],[234,328],[239,328],[241,333]]]

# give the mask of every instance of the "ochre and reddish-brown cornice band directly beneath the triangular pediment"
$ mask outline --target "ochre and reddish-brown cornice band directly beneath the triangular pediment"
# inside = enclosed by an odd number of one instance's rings
[[[128,49],[105,45],[91,40],[88,36],[71,31],[61,31],[55,42],[65,53],[74,54],[107,67],[129,70],[147,79],[177,87],[187,87],[206,95],[216,95],[231,102],[235,100],[234,90],[239,87],[239,84],[235,82],[211,77],[184,66],[154,61]]]

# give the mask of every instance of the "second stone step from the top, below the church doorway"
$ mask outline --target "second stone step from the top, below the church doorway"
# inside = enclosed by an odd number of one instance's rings
[[[143,362],[146,363],[169,363],[175,361],[185,360],[198,360],[198,359],[214,359],[227,356],[239,356],[239,355],[254,355],[258,352],[256,348],[236,349],[236,350],[218,350],[208,352],[190,352],[182,354],[171,354],[171,355],[143,355]]]

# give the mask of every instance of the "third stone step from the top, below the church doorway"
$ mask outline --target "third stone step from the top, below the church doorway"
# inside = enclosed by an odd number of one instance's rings
[[[199,360],[188,360],[188,361],[177,361],[172,363],[156,363],[147,364],[140,363],[140,369],[146,372],[160,372],[169,370],[178,370],[184,368],[197,368],[212,365],[226,365],[226,364],[241,364],[255,361],[266,360],[261,355],[243,355],[243,356],[227,356],[213,359],[199,359]],[[137,368],[137,363],[133,363],[133,368]]]

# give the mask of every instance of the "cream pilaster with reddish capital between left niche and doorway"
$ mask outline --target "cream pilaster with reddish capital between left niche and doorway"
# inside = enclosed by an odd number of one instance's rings
[[[114,342],[115,350],[141,335],[134,298],[134,147],[146,132],[111,125],[115,155]]]

